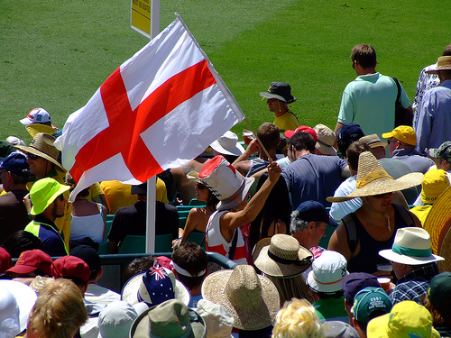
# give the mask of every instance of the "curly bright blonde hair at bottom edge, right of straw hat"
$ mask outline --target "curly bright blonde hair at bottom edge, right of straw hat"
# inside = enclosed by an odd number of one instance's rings
[[[315,308],[306,299],[293,298],[277,313],[272,338],[324,338]]]

